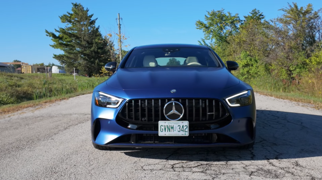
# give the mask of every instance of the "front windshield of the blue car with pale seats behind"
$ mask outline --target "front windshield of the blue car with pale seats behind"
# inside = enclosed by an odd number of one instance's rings
[[[134,49],[124,68],[139,67],[220,67],[219,61],[207,48],[145,48]]]

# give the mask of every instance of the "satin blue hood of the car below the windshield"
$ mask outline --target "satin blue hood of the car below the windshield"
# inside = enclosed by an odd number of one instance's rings
[[[139,89],[224,89],[238,85],[239,79],[225,68],[153,67],[118,69],[106,81],[122,90]]]

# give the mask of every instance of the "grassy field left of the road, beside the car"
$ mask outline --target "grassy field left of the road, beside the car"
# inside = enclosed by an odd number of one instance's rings
[[[48,76],[48,74],[47,74]],[[93,90],[106,78],[87,78],[69,74],[13,74],[0,72],[0,107],[32,100],[48,99]]]

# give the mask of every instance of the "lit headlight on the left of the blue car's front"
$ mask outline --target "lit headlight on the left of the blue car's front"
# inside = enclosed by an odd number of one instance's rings
[[[117,108],[123,99],[102,92],[95,92],[95,105],[106,108]]]

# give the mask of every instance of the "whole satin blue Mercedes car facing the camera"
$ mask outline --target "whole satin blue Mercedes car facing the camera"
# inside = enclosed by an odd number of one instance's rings
[[[254,92],[238,68],[207,46],[134,47],[93,91],[94,147],[253,147]]]

